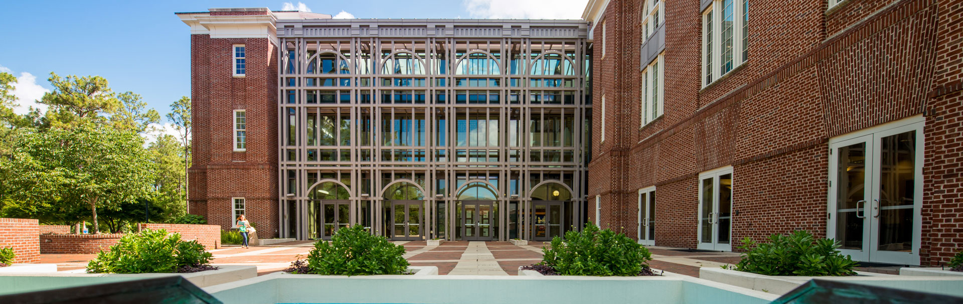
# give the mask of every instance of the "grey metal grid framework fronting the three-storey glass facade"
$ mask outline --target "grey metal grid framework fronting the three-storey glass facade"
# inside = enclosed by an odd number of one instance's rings
[[[590,142],[586,128],[591,115],[586,100],[585,22],[305,19],[278,20],[276,26],[281,45],[277,54],[280,231],[286,235],[295,231],[286,237],[307,238],[306,195],[312,186],[308,180],[324,179],[322,175],[348,189],[351,223],[367,217],[374,233],[382,235],[387,233],[383,223],[388,219],[382,212],[388,205],[383,190],[399,181],[424,192],[426,238],[439,237],[443,230],[445,239],[455,240],[457,196],[473,182],[497,190],[500,225],[495,240],[508,240],[509,203],[518,206],[514,228],[519,238],[533,238],[531,193],[545,182],[570,190],[577,211],[573,218],[577,227],[582,226]],[[472,62],[468,55],[478,53],[485,56]],[[336,59],[316,60],[319,54],[336,55]],[[410,55],[398,62],[399,54]],[[553,63],[554,58],[560,62]],[[491,59],[497,68],[490,66]],[[455,73],[461,63],[483,72]],[[325,64],[339,68],[331,72]],[[309,98],[322,93],[333,94],[333,102],[330,97]],[[423,103],[418,100],[420,94]],[[457,100],[459,95],[465,96],[464,103]],[[444,96],[444,103],[435,102],[439,96]],[[473,103],[471,98],[488,102]],[[336,117],[334,144],[317,142],[319,130],[311,132],[315,141],[309,142],[308,117],[318,121],[321,114]],[[347,118],[346,128],[340,126],[342,117]],[[413,129],[421,117],[425,140],[406,129],[405,121],[411,121]],[[458,120],[467,124],[473,117],[489,125],[484,132],[481,127],[473,130],[474,136],[465,132],[461,145]],[[560,139],[552,137],[555,128],[560,129]],[[467,130],[471,129],[466,126]],[[310,157],[323,151],[324,160]],[[326,158],[332,153],[333,158]],[[291,170],[296,172],[294,179],[288,177]],[[286,193],[287,183],[297,183],[293,195]],[[289,201],[297,203],[285,203]],[[290,215],[296,220],[284,220]],[[297,227],[290,229],[290,225]]]

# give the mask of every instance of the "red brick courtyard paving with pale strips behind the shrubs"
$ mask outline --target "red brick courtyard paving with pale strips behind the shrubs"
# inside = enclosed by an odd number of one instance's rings
[[[508,241],[445,241],[429,246],[426,241],[395,241],[404,246],[404,257],[411,266],[437,266],[438,274],[517,275],[518,266],[541,261],[541,248],[548,242],[530,241],[516,246]],[[648,246],[655,269],[699,276],[699,267],[718,267],[739,262],[739,254]],[[214,265],[253,265],[258,275],[281,271],[313,248],[312,241],[289,241],[267,246],[242,248],[226,245],[210,250]],[[41,254],[40,263],[57,264],[58,270],[82,269],[95,254]]]

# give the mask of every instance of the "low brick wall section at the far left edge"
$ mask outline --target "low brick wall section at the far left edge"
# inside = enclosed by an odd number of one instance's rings
[[[0,218],[0,247],[13,247],[14,264],[40,263],[37,219]]]

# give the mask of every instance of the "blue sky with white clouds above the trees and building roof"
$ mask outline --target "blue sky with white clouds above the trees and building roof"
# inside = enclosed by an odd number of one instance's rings
[[[300,8],[356,18],[579,18],[587,0],[355,1],[10,1],[0,13],[0,71],[19,78],[22,108],[45,90],[50,72],[99,75],[115,91],[141,94],[148,107],[190,96],[190,32],[174,13],[209,8]],[[20,110],[22,112],[22,110]]]

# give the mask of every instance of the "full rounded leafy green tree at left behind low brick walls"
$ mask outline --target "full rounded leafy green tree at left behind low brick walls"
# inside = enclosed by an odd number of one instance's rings
[[[37,206],[86,204],[97,233],[97,208],[147,197],[154,179],[143,139],[136,133],[80,124],[24,133],[10,162],[10,198]]]

